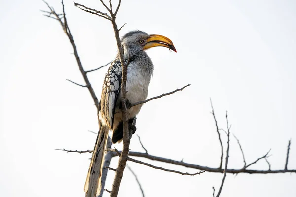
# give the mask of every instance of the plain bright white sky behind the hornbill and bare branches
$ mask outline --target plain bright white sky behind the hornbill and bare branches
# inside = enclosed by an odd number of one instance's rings
[[[116,55],[111,23],[65,1],[85,69],[111,61]],[[48,2],[61,10],[60,0]],[[103,9],[99,0],[77,2]],[[0,196],[81,197],[91,155],[54,149],[92,149],[96,136],[87,130],[97,130],[96,109],[87,89],[65,80],[83,83],[67,37],[40,9],[47,9],[41,0],[1,0]],[[148,51],[155,65],[148,97],[192,84],[142,108],[137,133],[150,154],[217,167],[221,150],[210,114],[211,97],[220,127],[225,127],[228,110],[231,131],[240,139],[247,163],[271,148],[272,169],[283,169],[292,138],[288,168],[296,168],[294,1],[123,0],[118,25],[125,22],[122,34],[135,29],[162,34],[178,51]],[[98,97],[106,70],[88,75]],[[240,168],[243,161],[234,138],[230,144],[229,168]],[[142,151],[136,137],[131,149]],[[222,180],[222,174],[181,176],[128,164],[147,197],[212,196],[212,186],[218,189]],[[117,159],[112,160],[111,167],[116,165]],[[267,167],[261,161],[252,168]],[[110,171],[107,189],[113,175]],[[295,174],[228,175],[221,196],[292,197],[295,184]],[[140,195],[126,170],[119,196]]]

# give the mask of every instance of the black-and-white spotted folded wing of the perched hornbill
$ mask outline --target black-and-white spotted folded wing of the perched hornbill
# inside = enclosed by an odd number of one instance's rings
[[[115,60],[106,73],[101,96],[101,113],[110,129],[113,127],[116,102],[120,94],[121,76],[121,63]]]

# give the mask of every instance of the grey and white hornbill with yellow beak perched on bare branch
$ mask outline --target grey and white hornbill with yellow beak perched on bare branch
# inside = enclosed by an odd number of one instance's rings
[[[154,66],[146,50],[162,46],[175,52],[173,42],[162,35],[148,34],[140,30],[130,31],[121,38],[124,62],[127,65],[126,99],[127,103],[144,101],[148,95],[148,86]],[[92,154],[87,178],[84,185],[85,197],[97,197],[101,192],[101,176],[104,152],[109,131],[113,132],[112,143],[121,142],[123,138],[122,104],[121,104],[122,66],[119,52],[105,75],[101,100],[98,105],[99,133]],[[129,129],[136,131],[132,125],[142,104],[127,109]]]

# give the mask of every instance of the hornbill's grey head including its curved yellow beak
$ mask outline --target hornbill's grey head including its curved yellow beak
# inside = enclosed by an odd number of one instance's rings
[[[169,38],[156,34],[149,35],[140,30],[126,33],[121,38],[121,44],[124,47],[125,53],[127,52],[128,54],[134,54],[138,51],[143,51],[156,46],[163,46],[177,52],[173,42]]]

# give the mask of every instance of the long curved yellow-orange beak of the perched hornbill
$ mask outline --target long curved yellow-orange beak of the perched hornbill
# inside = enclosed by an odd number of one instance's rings
[[[150,35],[146,39],[146,44],[144,45],[143,49],[146,50],[146,49],[156,47],[156,46],[163,46],[163,47],[169,48],[177,53],[172,40],[170,40],[169,38],[162,36],[162,35]]]

